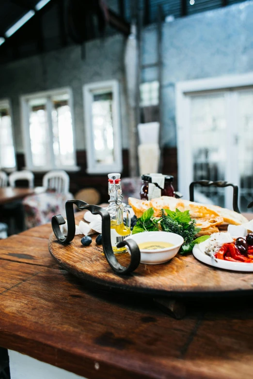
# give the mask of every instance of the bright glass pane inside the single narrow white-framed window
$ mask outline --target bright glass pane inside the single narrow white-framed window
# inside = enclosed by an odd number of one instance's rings
[[[114,162],[112,92],[94,94],[92,123],[96,163],[110,165]]]

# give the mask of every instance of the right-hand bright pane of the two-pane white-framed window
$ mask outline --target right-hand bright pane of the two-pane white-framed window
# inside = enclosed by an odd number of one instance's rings
[[[73,129],[67,94],[53,97],[52,124],[55,165],[73,166],[75,164]]]

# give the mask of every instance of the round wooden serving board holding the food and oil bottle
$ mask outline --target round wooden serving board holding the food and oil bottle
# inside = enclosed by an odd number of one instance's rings
[[[231,272],[207,266],[192,255],[176,255],[159,265],[140,263],[129,275],[114,273],[103,255],[102,246],[95,243],[83,246],[77,235],[68,245],[57,241],[52,233],[49,251],[64,269],[81,279],[104,286],[158,296],[235,294],[253,291],[253,273]],[[128,254],[117,255],[126,265]]]

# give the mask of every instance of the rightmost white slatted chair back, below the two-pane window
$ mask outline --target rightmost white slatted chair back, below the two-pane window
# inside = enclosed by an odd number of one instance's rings
[[[59,194],[67,194],[69,192],[69,176],[63,170],[52,170],[44,175],[42,185],[47,189],[56,190]]]

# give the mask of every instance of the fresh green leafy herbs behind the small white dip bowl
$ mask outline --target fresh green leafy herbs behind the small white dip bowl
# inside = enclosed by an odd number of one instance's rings
[[[132,234],[142,233],[145,231],[158,231],[159,225],[163,231],[179,234],[184,239],[184,244],[181,246],[180,253],[190,253],[195,244],[206,241],[209,236],[201,236],[195,239],[195,235],[201,230],[196,227],[195,220],[190,218],[190,212],[180,212],[176,209],[175,212],[169,209],[161,210],[159,219],[153,217],[154,209],[149,208],[142,214],[142,217],[137,219],[136,225],[133,228]]]

